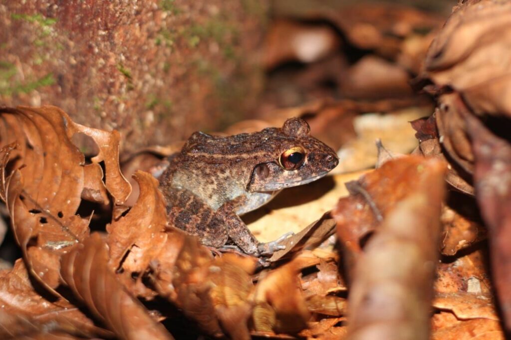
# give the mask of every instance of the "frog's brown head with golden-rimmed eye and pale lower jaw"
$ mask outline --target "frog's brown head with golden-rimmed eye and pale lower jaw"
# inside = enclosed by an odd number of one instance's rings
[[[254,166],[248,191],[275,191],[315,181],[338,163],[332,148],[310,135],[305,120],[290,118],[268,138],[272,151],[267,162]],[[265,130],[263,130],[264,132]]]

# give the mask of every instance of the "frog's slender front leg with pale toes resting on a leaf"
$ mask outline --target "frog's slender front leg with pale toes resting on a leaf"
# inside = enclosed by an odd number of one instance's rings
[[[283,245],[279,245],[278,242],[282,241],[288,234],[283,237],[267,243],[261,243],[255,238],[254,235],[248,230],[245,223],[236,214],[239,206],[242,206],[245,202],[245,196],[239,196],[232,201],[224,203],[216,213],[216,217],[223,220],[227,229],[227,234],[230,239],[241,248],[241,250],[247,254],[260,256],[260,255],[271,255],[277,250],[285,249]]]

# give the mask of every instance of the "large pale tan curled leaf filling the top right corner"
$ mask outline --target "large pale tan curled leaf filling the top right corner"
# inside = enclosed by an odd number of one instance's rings
[[[430,46],[424,76],[460,92],[476,114],[510,116],[510,15],[505,1],[460,3]]]

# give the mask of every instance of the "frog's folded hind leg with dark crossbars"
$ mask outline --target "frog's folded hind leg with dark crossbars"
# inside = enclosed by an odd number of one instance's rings
[[[191,191],[167,190],[167,218],[171,225],[199,237],[202,244],[222,247],[227,242],[227,230],[216,211]]]

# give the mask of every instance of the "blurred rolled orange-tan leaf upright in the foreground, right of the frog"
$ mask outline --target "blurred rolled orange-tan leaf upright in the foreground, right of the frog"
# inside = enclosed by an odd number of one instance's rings
[[[349,298],[349,332],[357,339],[376,334],[426,339],[445,163],[409,156],[387,162],[375,173],[386,165],[378,175],[393,169],[391,176],[399,181],[387,187],[389,177],[377,182],[373,182],[376,176],[364,178],[366,188],[372,183],[384,187],[375,189],[371,198],[385,219],[356,264]],[[405,184],[412,178],[414,187]]]

